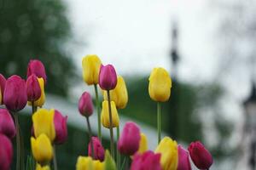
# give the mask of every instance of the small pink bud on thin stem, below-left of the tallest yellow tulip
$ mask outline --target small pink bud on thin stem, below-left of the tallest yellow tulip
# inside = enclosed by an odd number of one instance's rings
[[[91,116],[93,113],[92,99],[88,92],[84,92],[79,99],[79,112],[82,116]]]

